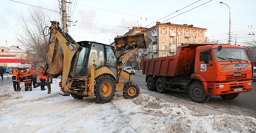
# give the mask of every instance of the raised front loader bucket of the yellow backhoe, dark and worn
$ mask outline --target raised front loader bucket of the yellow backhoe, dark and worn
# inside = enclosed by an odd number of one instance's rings
[[[151,40],[147,37],[146,33],[135,33],[132,35],[117,36],[115,39],[115,46],[117,51],[124,49],[134,48],[147,48]],[[128,46],[128,48],[127,48]]]

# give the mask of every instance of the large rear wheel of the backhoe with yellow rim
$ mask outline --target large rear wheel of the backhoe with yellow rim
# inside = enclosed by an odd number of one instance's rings
[[[95,78],[94,95],[97,103],[109,103],[115,96],[115,83],[109,75],[100,75]]]

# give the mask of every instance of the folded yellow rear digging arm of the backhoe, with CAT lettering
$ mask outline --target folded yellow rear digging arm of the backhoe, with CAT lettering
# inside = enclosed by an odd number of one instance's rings
[[[62,75],[61,84],[65,86],[68,76],[74,77],[73,68],[76,68],[82,47],[59,26],[59,22],[51,21],[51,23],[47,60],[42,73],[52,78]],[[58,47],[59,44],[63,52]]]

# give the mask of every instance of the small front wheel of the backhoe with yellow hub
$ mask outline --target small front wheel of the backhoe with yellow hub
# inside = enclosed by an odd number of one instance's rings
[[[140,94],[140,87],[135,83],[128,83],[124,86],[123,96],[128,99],[138,97]]]

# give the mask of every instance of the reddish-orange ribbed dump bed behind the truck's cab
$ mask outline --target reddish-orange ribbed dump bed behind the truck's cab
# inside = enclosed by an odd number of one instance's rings
[[[194,72],[195,51],[209,44],[184,44],[178,46],[175,56],[142,59],[142,74],[161,76],[188,76]]]

